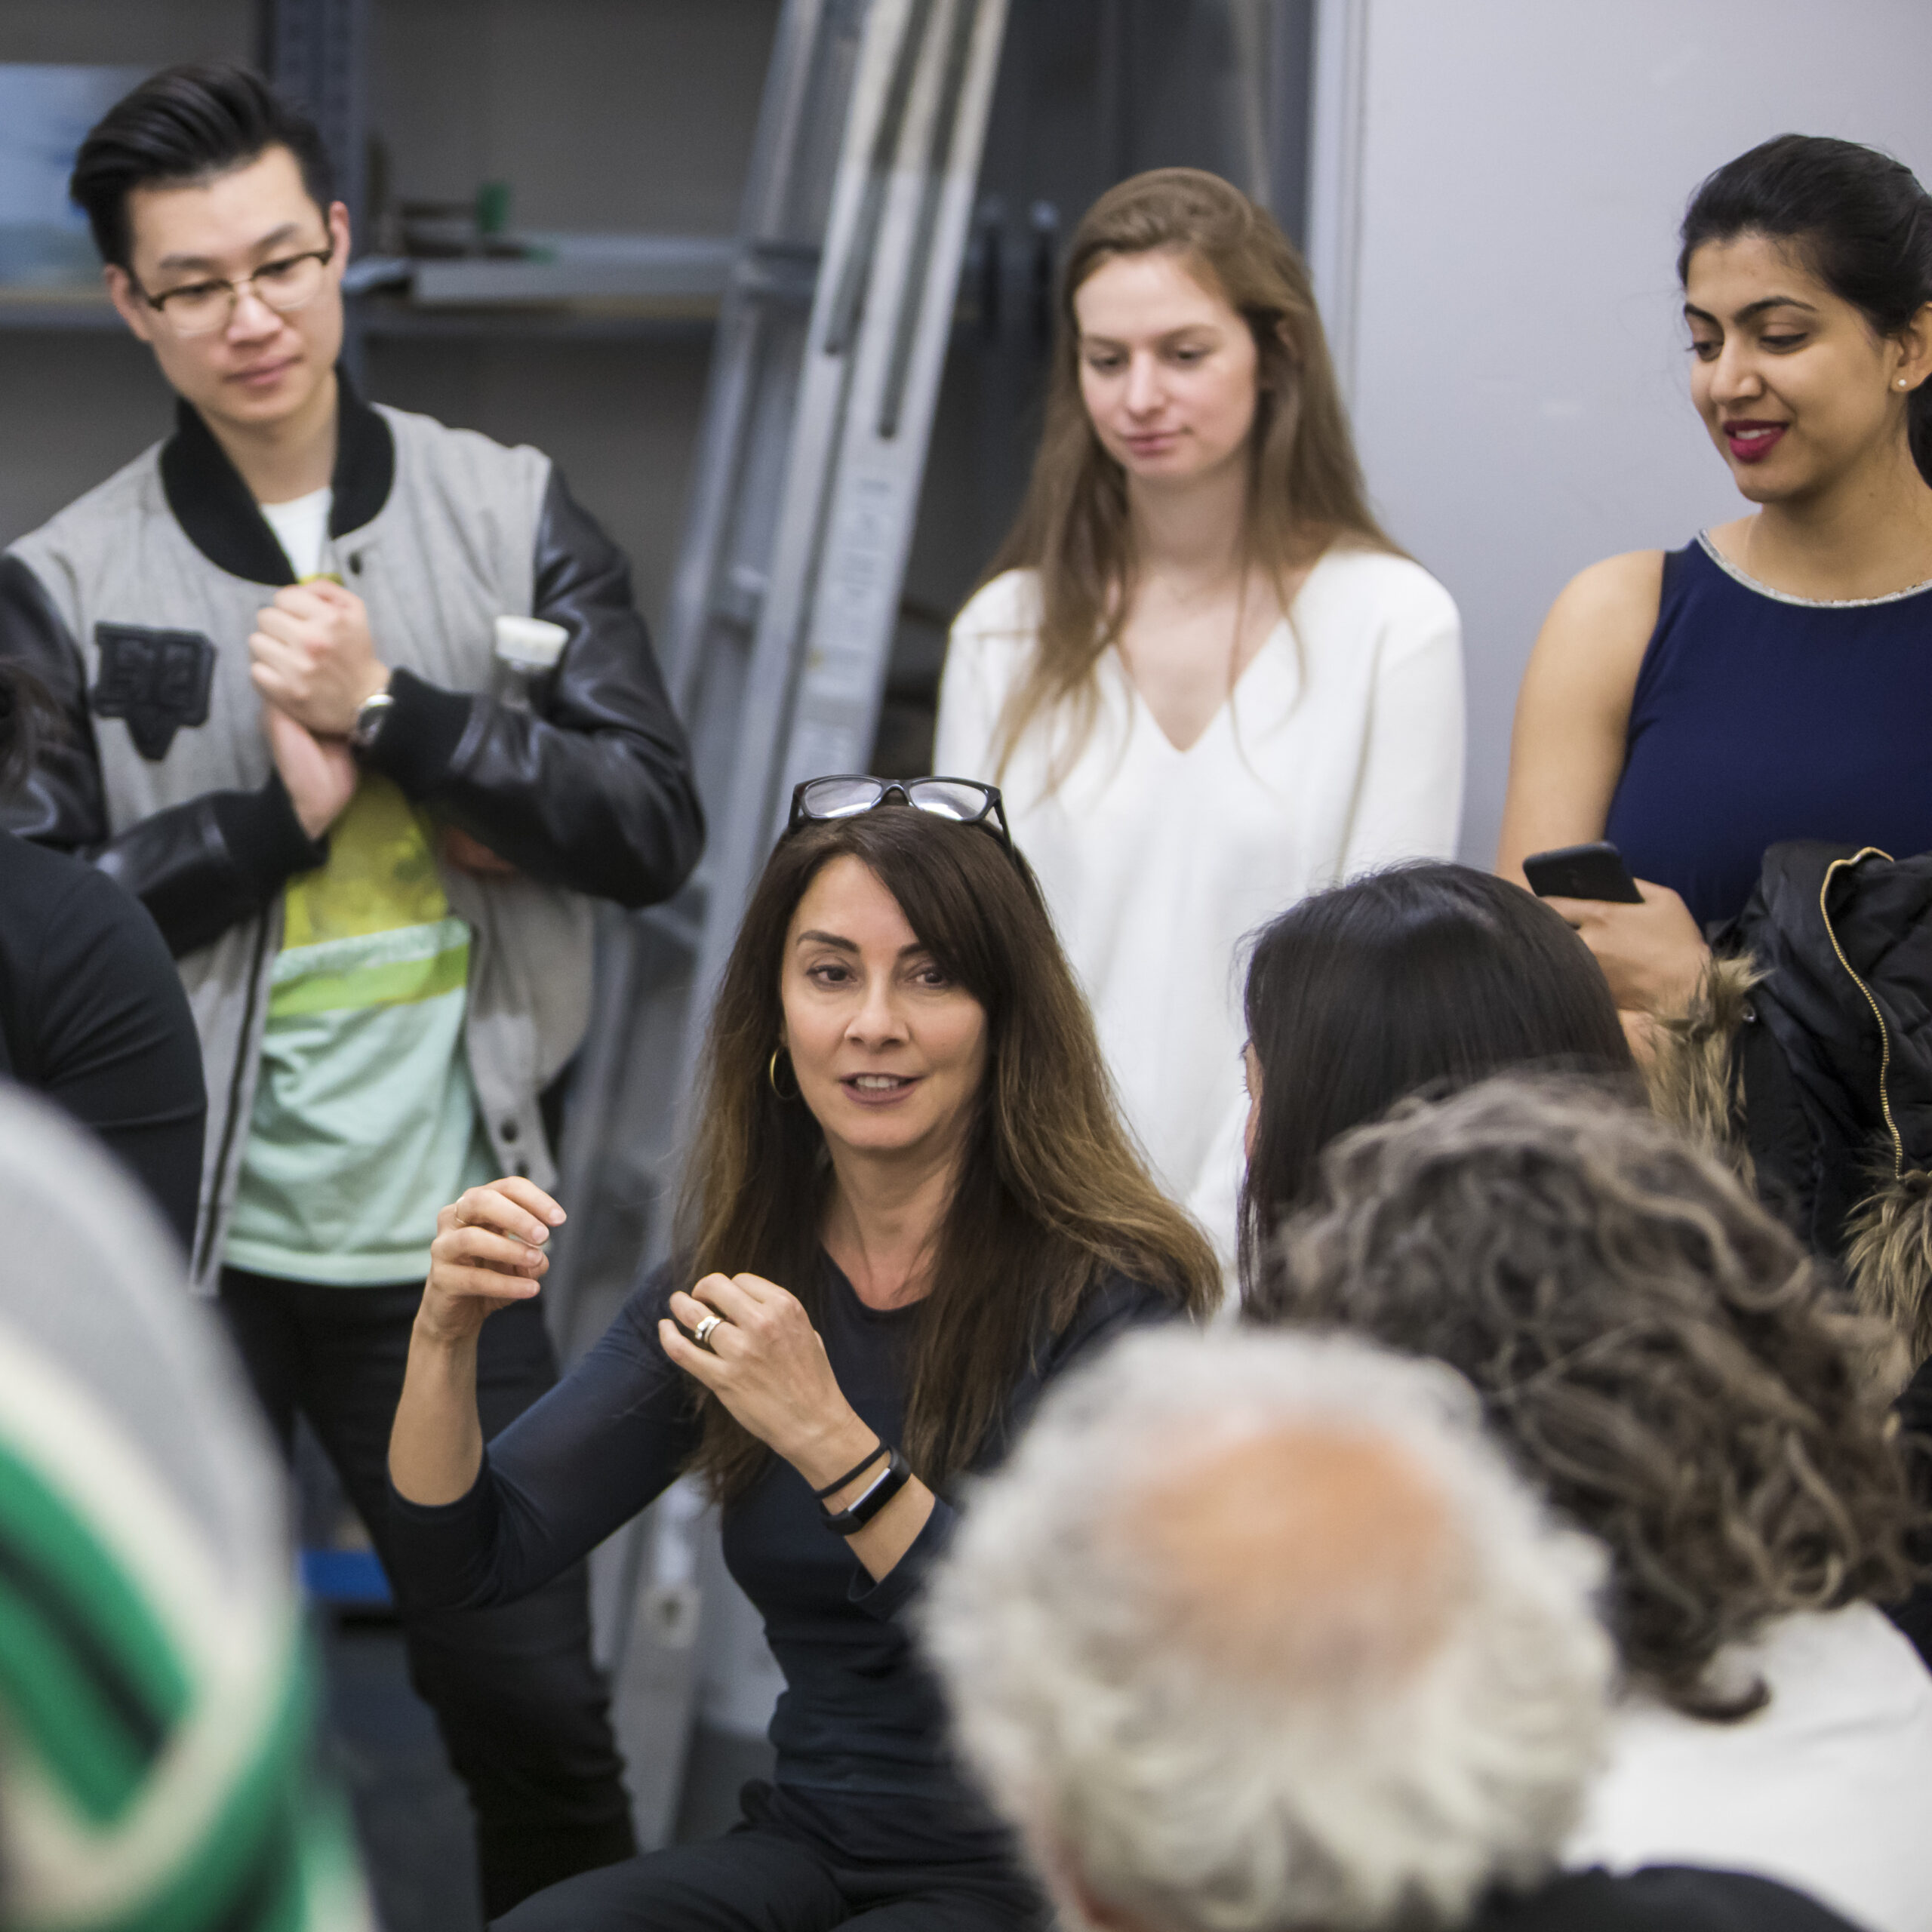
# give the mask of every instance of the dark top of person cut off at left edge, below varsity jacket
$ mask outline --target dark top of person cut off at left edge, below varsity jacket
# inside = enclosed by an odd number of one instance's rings
[[[91,1128],[185,1252],[207,1094],[187,993],[133,895],[66,852],[0,831],[0,1072]]]

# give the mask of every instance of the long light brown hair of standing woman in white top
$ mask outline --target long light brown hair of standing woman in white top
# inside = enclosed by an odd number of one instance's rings
[[[1238,187],[1198,168],[1155,168],[1109,187],[1074,230],[1061,280],[1045,427],[1020,516],[981,582],[1039,572],[1039,645],[999,724],[999,765],[1036,719],[1074,705],[1072,746],[1092,728],[1094,670],[1134,601],[1126,471],[1080,398],[1074,296],[1115,255],[1179,255],[1254,332],[1256,408],[1248,433],[1242,558],[1287,611],[1287,580],[1331,543],[1401,554],[1368,508],[1316,309],[1308,265]]]

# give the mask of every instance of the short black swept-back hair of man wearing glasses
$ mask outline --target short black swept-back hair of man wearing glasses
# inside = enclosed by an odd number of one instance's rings
[[[100,259],[128,269],[128,197],[137,187],[207,182],[270,147],[296,156],[309,199],[327,214],[334,170],[315,122],[247,68],[162,68],[95,124],[68,191],[87,214]]]

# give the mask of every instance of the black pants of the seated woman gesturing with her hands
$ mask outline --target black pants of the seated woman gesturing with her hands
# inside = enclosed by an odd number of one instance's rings
[[[765,1787],[746,1785],[759,1810]],[[1041,1932],[1047,1911],[1005,1861],[848,1866],[767,1824],[566,1878],[491,1932]]]

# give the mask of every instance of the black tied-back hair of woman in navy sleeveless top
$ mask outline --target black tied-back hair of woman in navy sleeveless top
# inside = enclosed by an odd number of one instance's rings
[[[1932,301],[1932,197],[1903,160],[1857,141],[1781,133],[1727,160],[1685,211],[1679,282],[1708,242],[1750,234],[1787,243],[1874,336],[1895,336]],[[1907,421],[1932,481],[1932,383],[1909,396]]]

